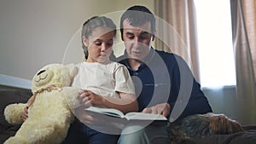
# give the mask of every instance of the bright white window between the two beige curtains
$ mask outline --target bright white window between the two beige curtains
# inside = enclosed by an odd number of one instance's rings
[[[195,0],[202,87],[236,85],[230,1]]]

